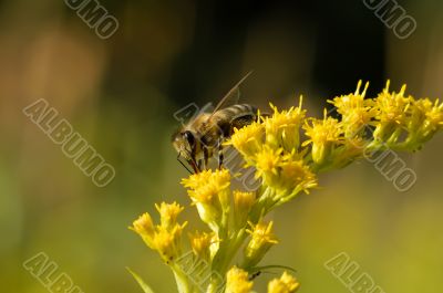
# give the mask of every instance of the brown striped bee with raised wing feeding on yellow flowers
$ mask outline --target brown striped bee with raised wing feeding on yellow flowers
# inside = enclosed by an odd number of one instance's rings
[[[218,168],[223,166],[223,143],[229,138],[234,128],[241,128],[258,119],[258,109],[249,104],[237,104],[239,85],[250,75],[243,77],[217,104],[212,113],[198,113],[172,136],[177,150],[177,160],[192,172],[199,172],[208,167],[209,158],[218,154]],[[234,103],[233,103],[234,102]]]

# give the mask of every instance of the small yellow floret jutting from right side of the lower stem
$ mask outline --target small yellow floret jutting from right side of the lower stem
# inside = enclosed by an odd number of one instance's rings
[[[250,234],[251,239],[247,247],[245,248],[245,265],[244,268],[255,266],[265,257],[266,252],[274,245],[278,243],[277,238],[272,233],[272,224],[259,222],[254,224],[249,222],[251,229],[246,231]]]

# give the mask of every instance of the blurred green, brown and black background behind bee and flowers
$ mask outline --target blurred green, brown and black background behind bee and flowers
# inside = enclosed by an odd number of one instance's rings
[[[175,292],[158,255],[127,226],[154,202],[188,206],[173,114],[217,102],[248,71],[241,101],[268,108],[326,100],[391,79],[443,97],[443,3],[399,0],[416,31],[400,40],[362,0],[100,1],[120,23],[100,39],[62,0],[0,1],[0,284],[47,290],[22,266],[45,252],[84,292]],[[99,188],[22,113],[47,100],[106,161]],[[264,263],[297,270],[301,292],[347,292],[323,268],[346,251],[385,292],[441,292],[443,136],[405,154],[418,181],[399,192],[368,161],[323,175],[322,188],[274,214],[280,244]],[[193,209],[185,214],[196,218]],[[256,284],[265,292],[271,274]]]

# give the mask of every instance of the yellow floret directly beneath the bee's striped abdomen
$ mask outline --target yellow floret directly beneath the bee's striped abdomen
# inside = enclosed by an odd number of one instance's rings
[[[253,122],[240,129],[235,128],[234,134],[225,145],[233,145],[248,160],[249,157],[261,149],[264,138],[265,128],[262,124]]]

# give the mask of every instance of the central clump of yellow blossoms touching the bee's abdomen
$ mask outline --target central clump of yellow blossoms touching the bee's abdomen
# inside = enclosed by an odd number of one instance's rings
[[[309,192],[317,186],[317,178],[305,164],[305,151],[300,150],[300,129],[306,109],[302,98],[298,107],[279,112],[272,104],[274,114],[260,117],[235,129],[227,145],[233,145],[245,158],[247,166],[256,168],[266,192],[258,199],[265,212],[293,198],[300,191]],[[266,202],[265,202],[266,201]]]

